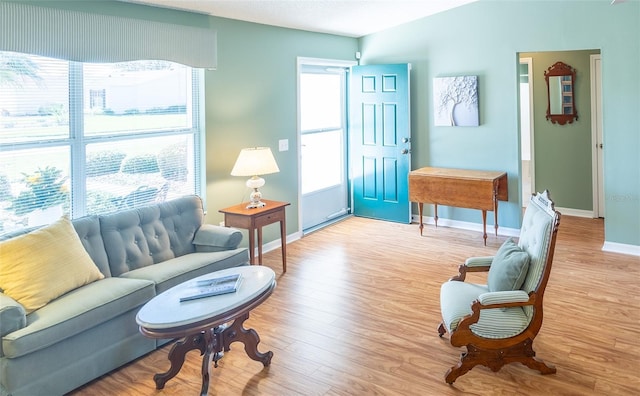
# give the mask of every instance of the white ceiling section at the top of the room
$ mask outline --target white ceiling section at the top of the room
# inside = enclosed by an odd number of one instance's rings
[[[362,37],[476,0],[124,0],[312,32]]]

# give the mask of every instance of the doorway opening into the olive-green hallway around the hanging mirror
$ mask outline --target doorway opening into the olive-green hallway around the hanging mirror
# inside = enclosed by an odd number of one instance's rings
[[[517,55],[522,161],[522,196],[519,198],[523,206],[530,193],[549,189],[556,208],[563,214],[602,217],[604,187],[600,51],[521,52]],[[549,67],[558,61],[582,73],[578,75],[573,90],[573,103],[580,118],[576,117],[575,122],[566,124],[548,119],[549,86],[544,76]],[[584,133],[585,130],[590,130],[591,134]]]

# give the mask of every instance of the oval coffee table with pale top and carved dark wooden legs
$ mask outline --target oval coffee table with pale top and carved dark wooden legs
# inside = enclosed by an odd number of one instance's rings
[[[236,292],[180,302],[180,297],[188,294],[196,281],[231,274],[242,276]],[[146,303],[136,316],[140,332],[150,338],[180,338],[169,351],[169,370],[153,377],[156,388],[164,388],[165,383],[182,368],[186,353],[197,349],[204,355],[201,395],[206,395],[209,390],[209,362],[213,360],[217,367],[223,351],[229,351],[231,343],[236,341],[244,344],[244,350],[251,359],[267,367],[273,352],[258,352],[258,333],[245,329],[243,323],[249,318],[249,312],[262,304],[275,287],[275,273],[271,268],[235,267],[181,283]],[[231,321],[231,325],[225,325]]]

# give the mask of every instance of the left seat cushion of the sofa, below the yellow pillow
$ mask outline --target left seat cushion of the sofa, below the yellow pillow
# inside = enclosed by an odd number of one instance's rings
[[[78,288],[27,316],[27,326],[2,338],[4,356],[46,348],[142,306],[155,296],[153,282],[105,278]]]

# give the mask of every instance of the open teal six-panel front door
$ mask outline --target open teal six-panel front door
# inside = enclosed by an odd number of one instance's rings
[[[349,136],[353,214],[411,222],[409,64],[354,66]]]

